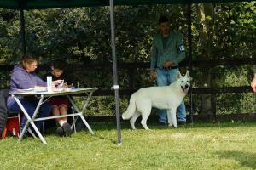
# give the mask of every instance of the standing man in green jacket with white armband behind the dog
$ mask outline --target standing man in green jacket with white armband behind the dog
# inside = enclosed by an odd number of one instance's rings
[[[158,86],[168,86],[176,81],[178,64],[185,58],[185,48],[181,34],[178,31],[170,31],[169,20],[166,16],[159,19],[160,33],[154,36],[151,64],[150,79],[156,81]],[[184,101],[177,108],[178,124],[186,123],[186,108]],[[160,124],[167,123],[166,110],[159,111]]]

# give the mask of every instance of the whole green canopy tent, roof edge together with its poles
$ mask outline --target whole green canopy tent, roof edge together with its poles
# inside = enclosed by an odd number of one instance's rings
[[[188,5],[188,42],[189,42],[189,70],[191,70],[192,60],[192,38],[191,38],[191,4],[192,3],[229,3],[244,2],[246,0],[0,0],[0,8],[19,9],[20,10],[20,33],[22,42],[22,51],[26,54],[25,40],[25,19],[24,10],[26,9],[43,9],[43,8],[74,8],[74,7],[96,7],[109,6],[110,26],[111,26],[111,46],[113,57],[113,89],[115,95],[115,111],[118,130],[118,144],[121,143],[121,128],[119,118],[119,83],[117,76],[117,59],[115,50],[115,31],[113,20],[114,5],[143,5],[143,4],[187,4]],[[247,0],[249,2],[249,0]],[[190,90],[190,107],[192,102],[192,90]],[[190,108],[191,121],[193,122],[192,111]]]

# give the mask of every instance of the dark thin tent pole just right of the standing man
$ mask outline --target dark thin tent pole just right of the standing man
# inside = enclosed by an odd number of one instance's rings
[[[191,29],[191,3],[188,4],[188,42],[189,42],[189,72],[190,75],[192,73],[192,29]],[[193,100],[192,100],[192,83],[190,86],[190,90],[189,90],[189,112],[190,112],[190,118],[191,118],[191,123],[193,125],[194,120],[193,120]]]

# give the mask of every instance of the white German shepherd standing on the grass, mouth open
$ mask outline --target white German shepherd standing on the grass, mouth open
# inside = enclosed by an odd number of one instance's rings
[[[177,71],[177,81],[169,86],[141,88],[131,95],[130,104],[123,113],[122,118],[130,120],[131,128],[136,129],[134,123],[138,116],[142,115],[142,125],[147,126],[148,116],[151,108],[167,110],[168,126],[177,127],[176,110],[188,93],[190,86],[189,71],[183,77],[180,71]]]

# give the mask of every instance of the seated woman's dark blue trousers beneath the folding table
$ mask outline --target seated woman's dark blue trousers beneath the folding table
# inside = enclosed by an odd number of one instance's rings
[[[36,110],[38,101],[39,100],[36,98],[35,99],[20,99],[20,103],[23,105],[27,114],[30,117],[32,117],[34,111]],[[21,111],[20,106],[16,102],[14,102],[11,105],[7,105],[7,107],[11,111]],[[49,116],[50,112],[51,112],[51,106],[48,103],[44,103],[43,105],[40,106],[38,116],[46,117],[46,116]],[[26,121],[27,121],[26,116],[23,116],[22,121],[21,121],[21,129],[23,129],[25,127]],[[42,127],[42,121],[38,121],[35,124],[38,127],[38,130],[40,131],[40,129]]]

